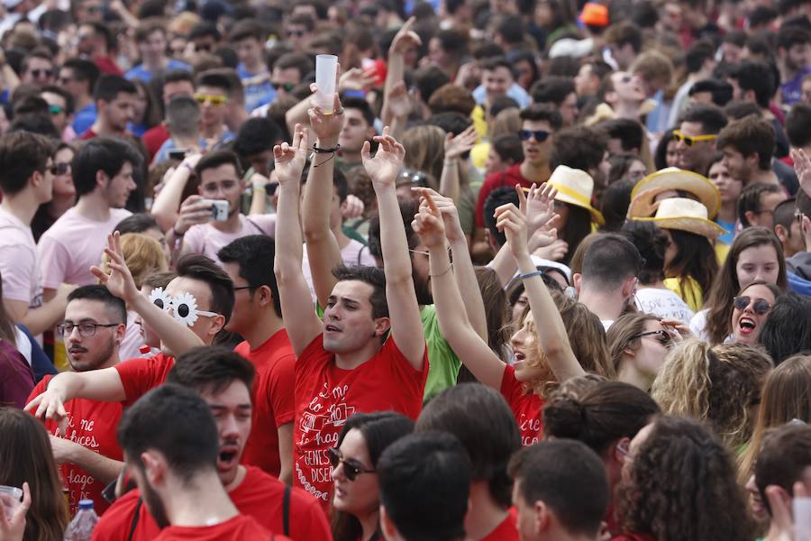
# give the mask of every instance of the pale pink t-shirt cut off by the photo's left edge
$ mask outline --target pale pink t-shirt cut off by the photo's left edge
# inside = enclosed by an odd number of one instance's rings
[[[42,305],[40,266],[31,227],[0,208],[0,275],[3,298]]]

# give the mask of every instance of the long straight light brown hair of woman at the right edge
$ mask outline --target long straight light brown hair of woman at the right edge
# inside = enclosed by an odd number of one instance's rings
[[[743,485],[752,474],[766,431],[791,419],[811,423],[811,355],[789,357],[766,378],[752,437],[738,457],[739,483]]]

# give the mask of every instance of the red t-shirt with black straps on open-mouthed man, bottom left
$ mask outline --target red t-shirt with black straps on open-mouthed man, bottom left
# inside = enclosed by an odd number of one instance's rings
[[[259,521],[262,527],[272,532],[284,532],[282,513],[285,484],[259,468],[249,467],[245,479],[228,495],[242,515]],[[140,494],[129,491],[115,501],[113,507],[96,524],[93,541],[126,541],[132,528],[132,518],[138,506]],[[290,492],[290,533],[295,541],[323,541],[332,538],[326,516],[312,496],[301,489]],[[141,505],[138,524],[132,541],[149,541],[160,533],[155,519]]]

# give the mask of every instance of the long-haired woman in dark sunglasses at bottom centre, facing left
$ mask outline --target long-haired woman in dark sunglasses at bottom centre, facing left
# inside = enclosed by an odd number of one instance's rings
[[[358,413],[347,420],[326,456],[333,466],[335,541],[382,541],[378,458],[388,445],[413,431],[414,421],[392,411]]]

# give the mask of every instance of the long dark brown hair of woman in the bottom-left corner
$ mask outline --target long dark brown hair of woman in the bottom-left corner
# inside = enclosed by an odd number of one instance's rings
[[[24,541],[58,541],[70,520],[68,502],[45,428],[16,408],[0,408],[0,484],[31,487]]]

